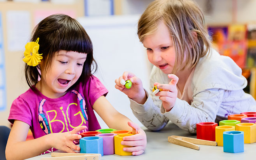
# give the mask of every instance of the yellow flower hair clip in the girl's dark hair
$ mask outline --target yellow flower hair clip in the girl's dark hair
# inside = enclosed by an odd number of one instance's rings
[[[42,59],[42,56],[41,56],[42,54],[38,54],[38,50],[39,50],[38,41],[39,41],[39,38],[36,39],[36,42],[28,42],[25,45],[25,48],[26,48],[24,52],[25,58],[22,59],[25,63],[33,67],[37,66]]]

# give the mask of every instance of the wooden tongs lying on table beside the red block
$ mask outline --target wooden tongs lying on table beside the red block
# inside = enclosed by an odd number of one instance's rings
[[[212,145],[212,146],[217,145],[217,143],[215,141],[207,141],[207,140],[202,140],[202,139],[195,139],[195,138],[175,136],[175,135],[169,136],[168,142],[176,144],[176,145],[181,145],[184,147],[196,149],[196,150],[199,150],[200,147],[195,144]]]

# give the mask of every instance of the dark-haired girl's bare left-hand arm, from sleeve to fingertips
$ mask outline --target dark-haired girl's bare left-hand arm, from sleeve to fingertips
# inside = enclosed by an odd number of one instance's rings
[[[75,139],[81,138],[76,133],[85,129],[85,126],[76,127],[70,132],[51,133],[37,139],[26,141],[29,128],[30,126],[25,122],[19,120],[14,121],[5,150],[7,160],[23,160],[38,156],[51,147],[74,153],[72,149],[80,150],[73,143]]]

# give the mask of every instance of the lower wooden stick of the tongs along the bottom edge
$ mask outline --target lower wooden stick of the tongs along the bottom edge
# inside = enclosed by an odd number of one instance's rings
[[[83,155],[83,156],[63,156],[63,157],[46,157],[41,160],[99,160],[99,156]]]

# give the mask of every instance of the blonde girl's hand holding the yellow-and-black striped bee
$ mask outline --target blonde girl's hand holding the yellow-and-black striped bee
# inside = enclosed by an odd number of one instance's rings
[[[158,92],[155,95],[160,96],[159,99],[163,101],[163,107],[166,109],[166,112],[169,112],[175,105],[176,98],[178,95],[176,85],[179,81],[179,78],[175,74],[168,74],[168,78],[171,78],[171,82],[169,82],[169,84],[154,83],[154,86],[157,85],[157,88],[163,89],[163,91]]]

